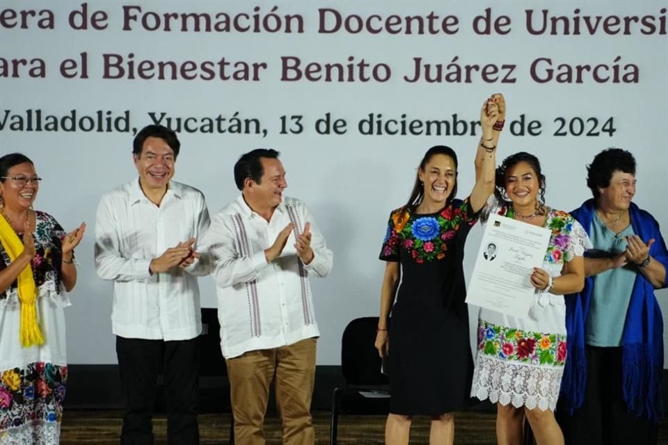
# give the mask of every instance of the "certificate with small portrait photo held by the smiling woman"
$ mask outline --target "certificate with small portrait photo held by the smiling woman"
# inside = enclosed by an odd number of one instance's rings
[[[543,265],[550,229],[490,215],[475,260],[466,302],[527,318],[536,288],[534,267]]]

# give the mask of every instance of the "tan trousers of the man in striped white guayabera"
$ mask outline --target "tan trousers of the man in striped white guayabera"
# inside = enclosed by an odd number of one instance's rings
[[[234,441],[264,445],[264,413],[276,375],[276,405],[284,445],[315,444],[310,407],[316,339],[275,349],[253,350],[227,360],[234,413]]]

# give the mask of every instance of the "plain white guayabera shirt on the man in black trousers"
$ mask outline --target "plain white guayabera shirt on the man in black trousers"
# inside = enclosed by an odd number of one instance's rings
[[[199,250],[209,227],[204,195],[170,181],[160,206],[138,179],[102,196],[95,224],[95,268],[113,281],[113,333],[134,339],[188,340],[202,331],[198,275],[210,272],[206,253],[186,269],[150,274],[149,264],[168,248],[196,238]]]

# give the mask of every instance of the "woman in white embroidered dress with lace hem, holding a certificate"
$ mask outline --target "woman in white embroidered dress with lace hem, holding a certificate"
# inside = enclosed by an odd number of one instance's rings
[[[539,445],[564,444],[554,410],[566,361],[564,295],[584,285],[582,255],[587,234],[568,213],[545,205],[545,177],[532,154],[520,152],[497,169],[496,193],[482,220],[491,213],[552,230],[529,318],[481,309],[478,351],[471,395],[496,403],[499,444],[523,443],[526,416]]]

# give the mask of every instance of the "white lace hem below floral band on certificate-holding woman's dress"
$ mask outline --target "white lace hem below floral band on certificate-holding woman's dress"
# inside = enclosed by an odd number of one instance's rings
[[[563,373],[563,366],[521,364],[478,353],[471,396],[501,405],[512,403],[516,408],[554,411]]]

